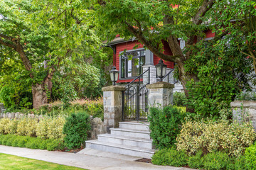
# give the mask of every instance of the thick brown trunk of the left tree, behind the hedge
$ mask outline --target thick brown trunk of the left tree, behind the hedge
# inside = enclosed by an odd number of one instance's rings
[[[40,108],[43,104],[48,103],[52,90],[52,82],[49,79],[42,84],[32,84],[33,108]]]

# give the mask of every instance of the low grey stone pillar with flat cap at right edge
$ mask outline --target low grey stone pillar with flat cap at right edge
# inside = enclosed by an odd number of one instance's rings
[[[233,120],[252,121],[252,125],[256,130],[256,101],[233,101],[230,103],[233,110]]]

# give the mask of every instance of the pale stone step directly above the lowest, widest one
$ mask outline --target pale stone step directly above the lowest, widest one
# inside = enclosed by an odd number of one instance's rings
[[[100,142],[108,142],[108,143],[115,143],[120,145],[127,145],[132,147],[144,147],[147,149],[154,149],[152,147],[152,140],[138,138],[138,137],[124,137],[124,136],[117,136],[111,134],[102,134],[98,135],[98,141]]]

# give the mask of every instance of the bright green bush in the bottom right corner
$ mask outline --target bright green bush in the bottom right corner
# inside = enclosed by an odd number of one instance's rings
[[[256,145],[251,145],[245,149],[245,159],[247,169],[256,169]]]

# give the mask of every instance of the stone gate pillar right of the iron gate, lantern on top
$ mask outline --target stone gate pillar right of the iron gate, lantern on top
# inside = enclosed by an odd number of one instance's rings
[[[160,106],[162,108],[173,103],[174,84],[161,81],[155,84],[148,84],[146,88],[149,89],[149,107]]]

